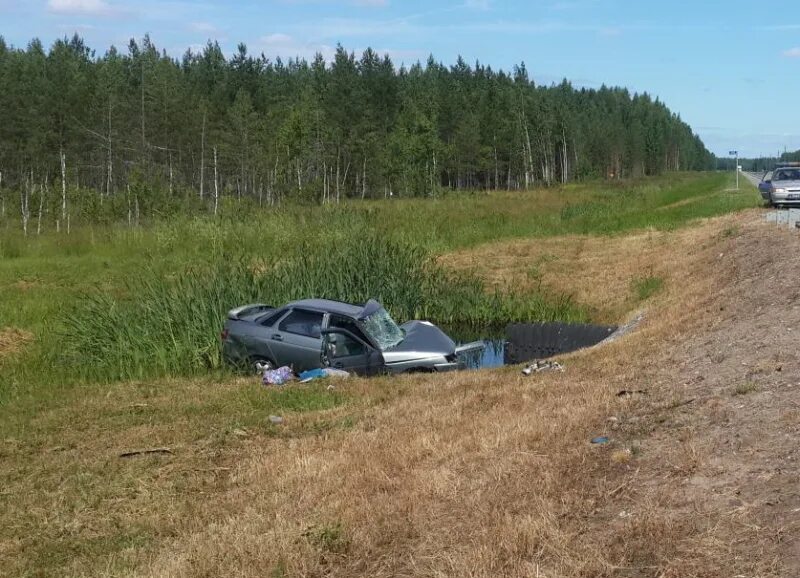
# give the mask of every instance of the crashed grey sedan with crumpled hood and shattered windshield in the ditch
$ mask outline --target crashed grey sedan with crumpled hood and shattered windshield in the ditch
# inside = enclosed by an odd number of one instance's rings
[[[295,372],[332,367],[359,375],[459,368],[456,347],[427,321],[398,325],[375,300],[351,305],[305,299],[282,307],[245,305],[228,313],[224,357],[253,371],[291,366]]]

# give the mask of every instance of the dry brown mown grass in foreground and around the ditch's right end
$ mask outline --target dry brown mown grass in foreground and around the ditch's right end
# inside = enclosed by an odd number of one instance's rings
[[[625,310],[618,292],[632,276],[665,276],[635,334],[566,356],[563,374],[352,380],[343,405],[283,412],[278,427],[265,424],[274,410],[258,405],[267,394],[249,381],[74,396],[38,415],[29,438],[4,442],[11,531],[0,530],[0,564],[61,575],[766,575],[753,571],[758,560],[732,555],[731,533],[753,532],[738,514],[676,507],[677,476],[708,459],[697,440],[687,435],[664,454],[671,469],[658,482],[640,472],[639,455],[657,446],[626,452],[608,419],[635,415],[646,433],[671,415],[642,413],[639,398],[616,393],[655,389],[649,380],[669,344],[715,322],[715,290],[729,272],[717,258],[721,231],[736,219],[746,217],[451,258],[486,263],[499,280],[557,255],[543,283],[573,286],[609,315]],[[597,435],[612,443],[592,446]],[[174,454],[117,457],[155,446]]]

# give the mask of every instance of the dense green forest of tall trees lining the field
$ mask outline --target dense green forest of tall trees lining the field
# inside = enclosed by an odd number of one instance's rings
[[[0,37],[0,218],[26,230],[234,201],[338,202],[526,189],[713,167],[658,99],[537,86],[463,59],[397,67],[339,46],[328,62],[219,44],[175,59],[149,37],[98,56]]]

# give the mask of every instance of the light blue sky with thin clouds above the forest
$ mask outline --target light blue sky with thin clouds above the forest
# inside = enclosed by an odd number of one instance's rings
[[[269,57],[328,56],[340,42],[398,65],[430,53],[524,61],[540,84],[658,96],[720,156],[800,149],[796,0],[0,0],[0,35],[15,46],[76,31],[98,53],[149,33],[174,56],[213,38]]]

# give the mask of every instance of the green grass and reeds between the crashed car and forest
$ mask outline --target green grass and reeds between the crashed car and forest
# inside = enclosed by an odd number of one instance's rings
[[[36,382],[43,365],[59,367],[63,382],[207,374],[221,366],[217,333],[224,311],[253,301],[374,296],[398,318],[473,327],[608,320],[568,292],[541,285],[487,291],[482,264],[455,273],[434,257],[510,238],[671,229],[752,204],[723,192],[725,179],[679,175],[530,193],[288,207],[249,221],[187,219],[29,240],[7,225],[0,233],[0,326],[13,328],[4,339],[9,348],[24,344],[27,357],[0,361],[6,366],[0,400]],[[633,283],[646,296],[658,280]]]

